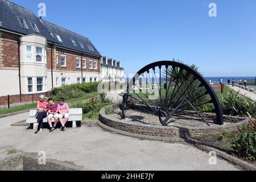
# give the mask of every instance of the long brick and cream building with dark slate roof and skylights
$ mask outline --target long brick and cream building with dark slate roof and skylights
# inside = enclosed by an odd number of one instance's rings
[[[0,0],[0,96],[100,81],[100,60],[88,38]]]

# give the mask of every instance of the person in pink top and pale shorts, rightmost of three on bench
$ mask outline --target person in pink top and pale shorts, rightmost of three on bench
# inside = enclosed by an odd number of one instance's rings
[[[60,119],[60,123],[64,123],[64,126],[61,127],[61,131],[65,131],[66,127],[65,124],[68,122],[68,117],[69,117],[69,107],[68,104],[65,103],[64,98],[60,98],[60,103],[57,107],[57,110],[59,111],[59,119]]]

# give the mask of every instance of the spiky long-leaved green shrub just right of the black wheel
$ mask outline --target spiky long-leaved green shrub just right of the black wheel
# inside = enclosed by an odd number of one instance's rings
[[[224,114],[227,115],[250,118],[256,115],[256,102],[241,96],[240,92],[229,92],[226,97],[222,97],[221,105]]]

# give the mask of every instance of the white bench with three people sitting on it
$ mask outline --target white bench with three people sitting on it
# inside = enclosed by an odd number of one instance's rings
[[[33,130],[36,130],[35,124],[38,122],[38,119],[35,118],[37,110],[30,110],[30,118],[26,120],[27,123],[33,125]],[[76,128],[76,122],[82,121],[82,108],[69,109],[69,117],[68,122],[73,122],[73,128]],[[43,119],[44,123],[47,123],[47,118]],[[52,118],[52,122],[54,122],[54,118]]]

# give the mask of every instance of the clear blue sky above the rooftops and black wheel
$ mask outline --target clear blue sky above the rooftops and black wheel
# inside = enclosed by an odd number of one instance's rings
[[[255,0],[11,0],[43,19],[88,37],[126,74],[172,58],[204,76],[256,76]],[[217,17],[208,15],[209,3]]]

